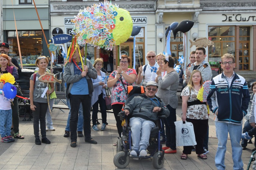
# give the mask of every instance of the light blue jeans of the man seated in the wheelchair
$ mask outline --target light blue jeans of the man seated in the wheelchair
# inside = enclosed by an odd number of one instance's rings
[[[133,140],[132,150],[141,151],[148,148],[150,131],[155,126],[155,123],[150,120],[139,117],[132,117],[130,119]]]

